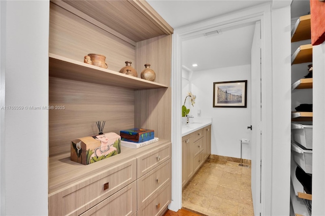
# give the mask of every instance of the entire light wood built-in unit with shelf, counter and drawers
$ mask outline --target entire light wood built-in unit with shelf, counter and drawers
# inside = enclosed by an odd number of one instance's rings
[[[137,215],[138,198],[145,199],[141,209],[148,209],[164,197],[160,206],[166,208],[173,28],[138,0],[51,1],[49,26],[49,105],[65,107],[49,110],[49,215]],[[105,55],[108,68],[84,63],[88,53]],[[133,62],[138,77],[118,73],[125,61]],[[155,82],[140,78],[145,63]],[[121,147],[120,154],[89,165],[71,161],[71,141],[98,134],[96,121],[106,121],[104,133],[153,129],[159,141]],[[152,186],[143,194],[141,181]]]

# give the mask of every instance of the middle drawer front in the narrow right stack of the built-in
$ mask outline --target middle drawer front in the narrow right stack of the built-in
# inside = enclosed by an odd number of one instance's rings
[[[144,205],[158,190],[163,188],[172,178],[172,159],[159,165],[154,170],[137,180],[138,209]]]

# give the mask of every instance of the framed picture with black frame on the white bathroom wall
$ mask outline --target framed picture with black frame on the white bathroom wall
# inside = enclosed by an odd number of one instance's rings
[[[247,80],[213,83],[213,107],[247,107]]]

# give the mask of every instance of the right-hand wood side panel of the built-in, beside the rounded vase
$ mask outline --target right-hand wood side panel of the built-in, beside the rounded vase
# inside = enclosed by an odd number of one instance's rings
[[[140,74],[144,64],[150,63],[156,74],[155,82],[170,86],[171,59],[172,35],[137,43],[136,69]],[[171,87],[136,91],[135,126],[153,129],[155,136],[171,140],[171,92]]]

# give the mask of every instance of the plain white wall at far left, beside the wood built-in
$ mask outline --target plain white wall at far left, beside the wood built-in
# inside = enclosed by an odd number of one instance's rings
[[[1,33],[6,33],[6,39],[1,40],[6,54],[1,58],[6,59],[6,80],[1,104],[23,109],[4,113],[1,211],[3,215],[47,215],[48,111],[25,106],[48,105],[49,1],[7,1],[5,10]]]

